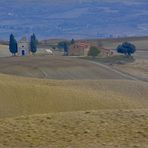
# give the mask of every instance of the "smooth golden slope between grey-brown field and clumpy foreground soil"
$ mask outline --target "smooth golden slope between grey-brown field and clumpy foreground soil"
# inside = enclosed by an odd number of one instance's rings
[[[148,107],[148,84],[129,80],[39,80],[0,75],[0,117]]]

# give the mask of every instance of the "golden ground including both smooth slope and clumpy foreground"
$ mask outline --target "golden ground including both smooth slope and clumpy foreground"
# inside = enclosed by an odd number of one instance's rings
[[[0,147],[146,148],[147,98],[140,81],[0,75]]]

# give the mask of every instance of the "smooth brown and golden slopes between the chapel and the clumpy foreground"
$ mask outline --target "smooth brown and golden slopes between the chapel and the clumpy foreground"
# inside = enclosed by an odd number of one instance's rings
[[[1,58],[0,73],[0,117],[148,105],[147,83],[77,58]]]

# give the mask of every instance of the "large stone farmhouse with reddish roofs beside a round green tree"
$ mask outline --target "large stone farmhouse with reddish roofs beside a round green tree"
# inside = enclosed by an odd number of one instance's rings
[[[68,55],[70,56],[87,56],[88,51],[90,49],[90,45],[85,42],[77,42],[71,45]]]

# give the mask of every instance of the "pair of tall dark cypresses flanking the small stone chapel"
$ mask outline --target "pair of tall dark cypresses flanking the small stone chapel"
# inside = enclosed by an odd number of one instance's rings
[[[37,51],[37,38],[35,34],[31,35],[31,40],[30,40],[30,52],[36,53]],[[16,55],[18,53],[18,43],[14,37],[13,34],[10,35],[10,40],[9,40],[9,50],[12,53],[12,55]]]

